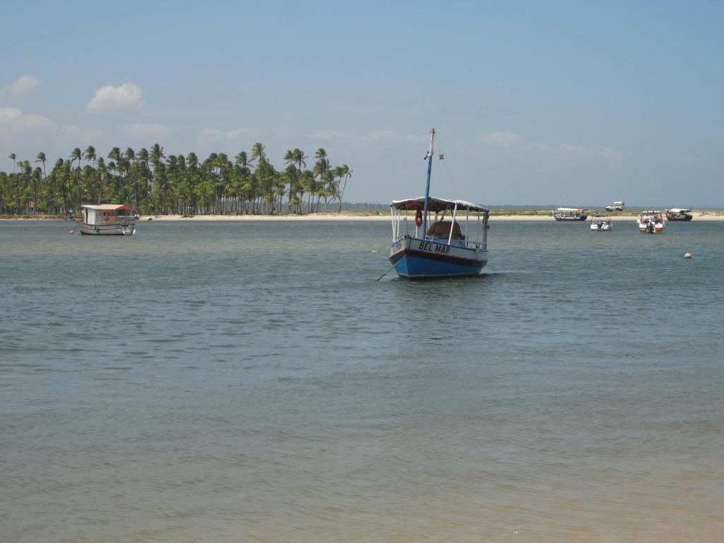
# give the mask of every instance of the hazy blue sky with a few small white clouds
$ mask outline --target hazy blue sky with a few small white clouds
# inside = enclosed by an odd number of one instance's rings
[[[345,201],[724,208],[720,1],[33,1],[2,9],[0,171],[93,145],[324,148]]]

